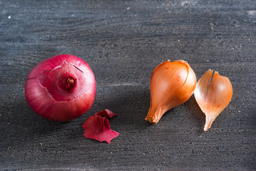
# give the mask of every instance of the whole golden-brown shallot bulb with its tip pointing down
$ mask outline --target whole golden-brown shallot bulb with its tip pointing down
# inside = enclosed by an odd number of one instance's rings
[[[183,61],[166,61],[155,68],[150,79],[150,109],[145,120],[158,123],[162,115],[185,103],[195,90],[196,76]]]

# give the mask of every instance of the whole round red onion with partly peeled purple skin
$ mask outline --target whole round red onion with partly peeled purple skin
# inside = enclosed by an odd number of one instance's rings
[[[81,58],[58,55],[39,63],[25,84],[26,101],[48,120],[65,122],[86,113],[96,93],[90,66]]]

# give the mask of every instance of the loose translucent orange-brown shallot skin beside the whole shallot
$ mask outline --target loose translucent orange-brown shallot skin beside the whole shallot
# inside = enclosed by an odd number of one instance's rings
[[[198,81],[194,95],[201,110],[205,113],[204,130],[206,131],[211,127],[217,115],[230,103],[232,85],[227,77],[220,76],[217,71],[213,74],[213,70],[208,70]]]

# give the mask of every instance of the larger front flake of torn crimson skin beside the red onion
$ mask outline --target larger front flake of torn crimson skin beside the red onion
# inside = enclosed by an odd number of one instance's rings
[[[106,141],[111,143],[113,138],[118,137],[119,133],[111,130],[108,119],[100,115],[89,116],[83,123],[84,136],[98,140],[100,142]]]

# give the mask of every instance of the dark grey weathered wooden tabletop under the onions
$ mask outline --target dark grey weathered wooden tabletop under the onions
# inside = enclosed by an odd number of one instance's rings
[[[0,1],[0,170],[256,170],[256,2]],[[57,54],[83,58],[96,99],[68,123],[36,115],[24,83]],[[199,79],[209,68],[230,78],[233,97],[210,131],[192,96],[145,121],[150,76],[183,59]],[[108,108],[120,135],[98,142],[82,123]]]

